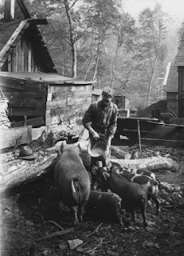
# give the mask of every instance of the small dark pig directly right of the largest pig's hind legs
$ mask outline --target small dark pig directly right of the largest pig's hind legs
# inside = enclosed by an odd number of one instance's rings
[[[119,198],[119,195],[91,190],[87,205],[100,213],[117,218],[120,226],[123,227],[121,198]]]

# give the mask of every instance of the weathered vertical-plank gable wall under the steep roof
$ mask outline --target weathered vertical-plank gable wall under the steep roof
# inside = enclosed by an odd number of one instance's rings
[[[37,57],[33,43],[25,36],[22,36],[17,45],[11,47],[2,70],[9,72],[42,72],[44,68]]]

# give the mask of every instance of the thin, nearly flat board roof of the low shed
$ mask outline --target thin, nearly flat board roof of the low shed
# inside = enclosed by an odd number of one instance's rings
[[[56,73],[42,72],[0,72],[0,78],[14,78],[23,81],[46,82],[49,84],[74,84],[74,85],[90,85],[91,81],[84,81],[75,78],[63,77]]]

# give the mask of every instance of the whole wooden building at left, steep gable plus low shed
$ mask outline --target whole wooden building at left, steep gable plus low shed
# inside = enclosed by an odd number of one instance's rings
[[[92,82],[63,77],[45,46],[39,25],[22,0],[23,20],[14,20],[14,1],[6,0],[0,23],[0,88],[9,99],[14,126],[76,122],[92,102]]]

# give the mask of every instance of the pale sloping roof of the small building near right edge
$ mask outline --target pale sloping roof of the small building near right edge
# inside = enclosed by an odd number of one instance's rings
[[[170,66],[170,73],[166,82],[166,92],[178,92],[178,67],[173,63]]]

